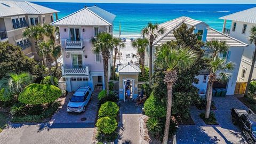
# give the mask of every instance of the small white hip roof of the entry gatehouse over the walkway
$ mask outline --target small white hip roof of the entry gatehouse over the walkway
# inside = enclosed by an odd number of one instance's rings
[[[126,63],[118,65],[117,68],[118,73],[140,73],[140,67],[138,65],[135,65],[133,63]]]

